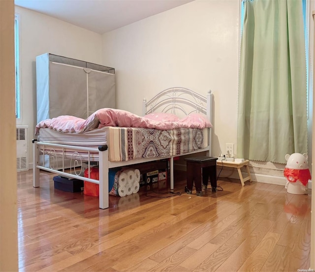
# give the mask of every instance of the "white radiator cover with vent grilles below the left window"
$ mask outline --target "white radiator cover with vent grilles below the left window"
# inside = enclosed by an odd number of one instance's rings
[[[29,170],[28,126],[16,126],[16,170]]]

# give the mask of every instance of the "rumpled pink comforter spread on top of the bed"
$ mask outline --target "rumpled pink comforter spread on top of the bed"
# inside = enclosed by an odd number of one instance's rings
[[[86,120],[63,115],[41,121],[36,125],[35,135],[38,135],[41,127],[48,127],[60,132],[70,133],[83,133],[103,126],[142,127],[161,130],[212,127],[210,121],[203,114],[192,113],[183,119],[174,117],[174,115],[163,113],[141,117],[124,110],[103,108],[97,110]]]

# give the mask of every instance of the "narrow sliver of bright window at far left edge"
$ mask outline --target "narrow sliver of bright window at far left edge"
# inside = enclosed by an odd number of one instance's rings
[[[21,118],[20,105],[20,44],[19,44],[19,15],[14,17],[14,57],[15,57],[15,116]]]

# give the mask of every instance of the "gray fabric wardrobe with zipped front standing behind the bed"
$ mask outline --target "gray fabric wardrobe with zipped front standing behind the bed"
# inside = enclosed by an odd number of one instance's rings
[[[114,73],[114,68],[82,60],[37,56],[37,122],[61,115],[87,119],[100,108],[115,108]]]

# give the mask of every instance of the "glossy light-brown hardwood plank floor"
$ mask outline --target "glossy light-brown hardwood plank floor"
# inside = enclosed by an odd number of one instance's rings
[[[310,267],[311,191],[220,179],[223,191],[98,198],[54,189],[52,174],[18,173],[19,271],[294,271]],[[163,182],[156,192],[166,192]],[[150,194],[151,197],[146,196]],[[161,198],[162,196],[170,196]]]

